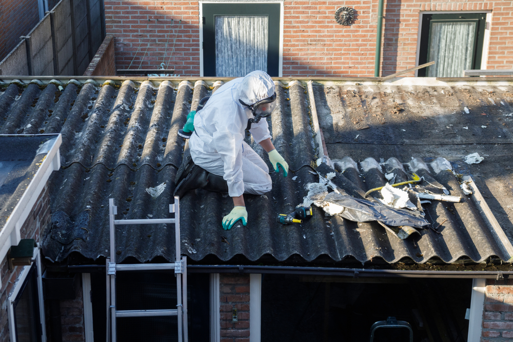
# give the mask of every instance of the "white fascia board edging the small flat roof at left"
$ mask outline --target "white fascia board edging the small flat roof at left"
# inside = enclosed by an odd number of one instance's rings
[[[12,136],[20,136],[12,135]],[[53,135],[55,134],[38,134],[38,135]],[[26,135],[31,136],[31,135]],[[59,147],[62,143],[61,134],[57,135],[55,142],[53,143],[50,150],[47,152],[45,159],[41,163],[41,166],[35,173],[34,177],[30,181],[27,189],[23,193],[22,198],[19,199],[16,207],[14,207],[11,215],[7,219],[4,228],[0,231],[0,260],[4,259],[7,255],[7,251],[11,246],[17,246],[21,239],[19,230],[22,228],[23,223],[29,217],[32,207],[34,206],[37,197],[41,194],[41,191],[45,188],[48,178],[51,173],[61,168],[61,157],[59,154]]]

